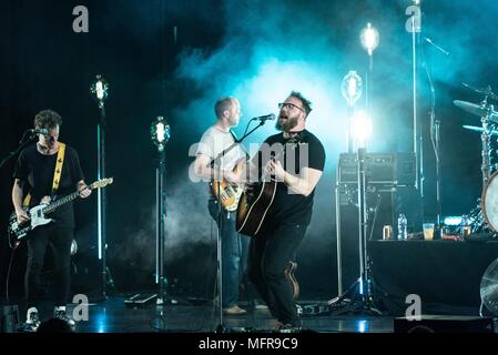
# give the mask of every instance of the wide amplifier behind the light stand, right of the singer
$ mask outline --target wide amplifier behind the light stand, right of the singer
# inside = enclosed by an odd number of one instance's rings
[[[337,170],[337,183],[358,183],[358,155],[342,153]],[[415,185],[414,153],[367,153],[365,160],[367,184],[413,186]]]

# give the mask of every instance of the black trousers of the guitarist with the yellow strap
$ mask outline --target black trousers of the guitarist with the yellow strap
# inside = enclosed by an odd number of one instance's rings
[[[53,251],[53,274],[55,282],[55,306],[65,306],[71,282],[71,243],[74,231],[50,223],[35,227],[28,235],[28,265],[24,275],[27,307],[38,306],[40,273],[49,244]]]

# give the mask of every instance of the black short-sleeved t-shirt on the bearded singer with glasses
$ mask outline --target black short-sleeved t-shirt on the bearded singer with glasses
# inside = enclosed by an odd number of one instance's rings
[[[284,139],[283,133],[278,133],[268,136],[264,143],[270,146],[275,143],[284,145],[283,153],[277,153],[275,159],[281,161],[282,166],[284,166],[287,173],[298,176],[303,168],[323,171],[325,165],[325,150],[322,142],[306,130],[298,134],[297,141],[298,143],[293,143],[289,139]],[[265,166],[267,163],[267,159],[264,155],[260,150],[260,168]],[[301,159],[301,155],[303,155],[303,159]],[[294,169],[292,166],[293,163]],[[315,190],[308,196],[304,196],[292,192],[283,182],[278,182],[272,206],[266,214],[265,225],[271,227],[284,222],[309,224],[314,195]]]

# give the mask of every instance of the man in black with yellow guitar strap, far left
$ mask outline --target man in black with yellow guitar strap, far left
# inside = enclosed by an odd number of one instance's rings
[[[18,216],[18,223],[28,223],[30,216],[22,209],[23,204],[33,207],[39,204],[49,204],[57,196],[68,195],[78,189],[80,196],[85,199],[91,191],[87,189],[81,171],[80,160],[74,149],[59,142],[61,116],[51,111],[39,112],[34,118],[35,129],[45,129],[47,135],[40,134],[37,144],[27,146],[19,154],[12,187],[12,203]],[[60,150],[65,153],[62,159],[60,179],[54,178],[55,164],[61,156]],[[58,185],[55,189],[54,186]],[[29,201],[27,195],[29,194]],[[47,246],[52,244],[55,275],[55,310],[54,317],[64,320],[71,325],[74,321],[65,315],[65,303],[70,288],[71,243],[74,230],[74,212],[72,203],[67,203],[50,217],[54,222],[40,225],[28,235],[28,265],[24,276],[27,300],[27,329],[37,331],[40,317],[37,308],[37,298],[40,285],[40,272]]]

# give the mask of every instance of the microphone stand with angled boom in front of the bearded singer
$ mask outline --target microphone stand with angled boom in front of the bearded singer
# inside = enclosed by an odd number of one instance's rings
[[[252,121],[254,121],[255,119],[250,120],[250,122],[247,123],[247,128],[251,124]],[[252,129],[250,132],[247,132],[247,128],[246,128],[246,132],[241,139],[235,140],[234,143],[232,143],[228,148],[226,148],[225,150],[223,150],[220,154],[217,154],[216,158],[214,158],[209,166],[211,166],[212,169],[214,169],[214,165],[217,164],[218,169],[217,169],[217,179],[218,179],[218,183],[217,183],[217,197],[220,199],[221,196],[221,182],[223,181],[222,179],[222,164],[221,164],[221,160],[222,158],[228,153],[232,149],[234,149],[235,146],[240,145],[242,143],[242,141],[244,139],[246,139],[251,133],[253,133],[255,130],[260,129],[262,125],[264,125],[266,123],[266,120],[261,120],[260,124],[256,125],[254,129]],[[216,229],[216,267],[217,267],[217,277],[216,277],[216,285],[217,285],[217,300],[218,300],[218,325],[216,326],[216,333],[227,333],[228,329],[227,327],[223,324],[223,286],[222,286],[222,280],[223,280],[223,260],[222,260],[222,204],[220,201],[217,201],[217,229]],[[230,216],[230,214],[228,214]]]

